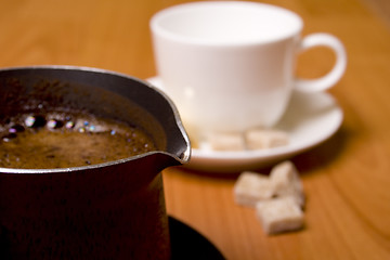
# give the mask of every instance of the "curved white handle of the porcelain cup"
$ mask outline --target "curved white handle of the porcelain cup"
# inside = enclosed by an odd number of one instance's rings
[[[335,36],[328,34],[312,34],[304,37],[298,51],[306,51],[314,47],[327,47],[336,54],[336,64],[333,69],[325,76],[317,79],[300,79],[295,80],[295,88],[301,92],[318,92],[335,86],[343,75],[347,67],[347,53],[343,44]]]

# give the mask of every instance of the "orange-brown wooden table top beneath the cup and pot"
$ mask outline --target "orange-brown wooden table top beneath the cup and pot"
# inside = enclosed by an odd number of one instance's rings
[[[292,158],[308,196],[304,230],[266,236],[253,210],[233,200],[236,174],[164,172],[169,214],[227,259],[390,259],[389,5],[365,1],[268,1],[299,13],[303,35],[336,35],[349,55],[344,77],[329,91],[344,112],[340,130]],[[148,20],[179,2],[1,0],[0,67],[68,64],[154,76]],[[310,51],[299,56],[298,75],[325,74],[333,61],[328,50]]]

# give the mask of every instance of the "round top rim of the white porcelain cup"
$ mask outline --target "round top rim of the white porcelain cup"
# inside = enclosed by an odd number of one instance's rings
[[[161,22],[168,18],[171,15],[179,14],[182,12],[188,12],[190,9],[202,9],[206,6],[229,6],[229,5],[236,5],[236,6],[244,6],[250,9],[269,9],[275,12],[282,13],[284,16],[289,16],[291,20],[297,21],[297,25],[290,29],[288,32],[281,34],[277,37],[273,37],[270,39],[260,39],[253,37],[252,39],[248,40],[234,40],[234,41],[221,41],[221,40],[208,40],[208,39],[199,39],[196,37],[187,37],[182,36],[176,32],[170,31],[169,29],[165,28],[161,25]],[[269,4],[269,3],[259,3],[259,2],[249,2],[249,1],[206,1],[206,2],[190,2],[190,3],[182,3],[169,6],[167,9],[162,9],[155,13],[151,21],[150,21],[150,28],[152,30],[152,35],[158,36],[160,38],[186,43],[186,44],[194,44],[194,46],[216,46],[216,47],[238,47],[238,46],[255,46],[255,44],[268,44],[277,41],[282,41],[291,37],[299,35],[303,28],[303,21],[302,18],[295,12],[287,10],[285,8]]]

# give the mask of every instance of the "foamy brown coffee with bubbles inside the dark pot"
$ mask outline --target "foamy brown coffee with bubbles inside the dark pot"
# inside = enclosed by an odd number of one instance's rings
[[[3,168],[81,167],[156,150],[142,129],[83,113],[22,114],[0,125],[0,138]]]

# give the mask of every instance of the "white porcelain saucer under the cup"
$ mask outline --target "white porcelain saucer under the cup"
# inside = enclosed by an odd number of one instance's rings
[[[159,78],[147,79],[164,90]],[[286,146],[239,152],[193,148],[187,168],[212,172],[238,172],[271,166],[308,151],[330,138],[340,127],[343,113],[335,99],[325,92],[294,92],[289,107],[275,126],[289,134]]]

